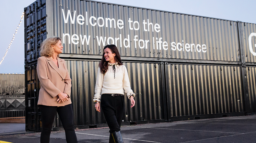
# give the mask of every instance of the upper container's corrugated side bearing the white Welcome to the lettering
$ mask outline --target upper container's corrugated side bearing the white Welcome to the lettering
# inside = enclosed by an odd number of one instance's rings
[[[234,21],[87,0],[45,5],[47,37],[60,37],[66,54],[102,55],[116,44],[121,56],[241,61]]]

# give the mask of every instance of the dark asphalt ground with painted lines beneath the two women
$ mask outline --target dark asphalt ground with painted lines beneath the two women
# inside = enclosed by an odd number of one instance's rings
[[[75,132],[79,143],[108,143],[108,130],[104,127]],[[125,143],[255,143],[256,115],[121,126],[121,133]],[[0,143],[40,142],[40,132],[7,134],[0,134]],[[50,143],[65,142],[64,131],[51,133]]]

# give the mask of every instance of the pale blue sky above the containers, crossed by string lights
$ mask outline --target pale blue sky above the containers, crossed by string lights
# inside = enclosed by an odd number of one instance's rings
[[[35,0],[1,0],[0,61],[18,27],[24,8]],[[97,0],[140,8],[256,24],[255,0]],[[0,65],[0,73],[24,73],[24,19]]]

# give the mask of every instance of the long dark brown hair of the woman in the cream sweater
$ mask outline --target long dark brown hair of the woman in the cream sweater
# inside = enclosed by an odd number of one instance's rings
[[[120,54],[118,52],[118,49],[116,47],[116,45],[106,45],[104,48],[103,48],[103,51],[104,49],[106,48],[109,48],[112,52],[112,54],[116,54],[115,56],[115,61],[118,62],[118,65],[123,65],[122,61],[121,61],[121,57],[120,57]],[[101,73],[105,74],[108,70],[108,62],[106,61],[105,57],[104,57],[104,54],[102,55],[102,59],[101,59],[101,62],[99,63],[99,67],[101,68]]]

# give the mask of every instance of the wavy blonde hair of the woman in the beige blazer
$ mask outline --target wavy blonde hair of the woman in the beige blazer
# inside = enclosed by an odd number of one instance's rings
[[[59,37],[50,37],[45,39],[42,42],[40,47],[40,56],[46,56],[46,57],[53,56],[54,49],[52,48],[52,46],[56,45],[59,42],[59,40],[61,41]]]

